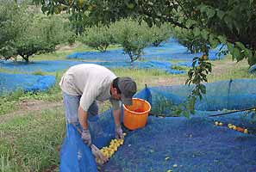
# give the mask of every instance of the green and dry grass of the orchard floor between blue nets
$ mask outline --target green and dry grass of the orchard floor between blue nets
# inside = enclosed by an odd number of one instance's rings
[[[115,47],[111,47],[115,48]],[[91,50],[89,47],[78,45],[72,50],[59,50],[50,54],[35,56],[34,60],[65,59],[72,52]],[[238,64],[230,64],[231,58],[213,61],[214,71],[209,75],[209,82],[237,78],[255,78],[254,74],[248,74],[246,61]],[[221,66],[218,69],[218,66]],[[225,69],[226,68],[226,69]],[[219,71],[218,71],[219,70]],[[0,71],[4,71],[0,68]],[[118,77],[133,77],[138,84],[138,89],[143,89],[145,83],[148,86],[170,85],[174,80],[184,81],[183,75],[171,75],[160,70],[114,69]],[[5,71],[4,71],[5,72]],[[17,71],[8,71],[17,72]],[[21,107],[23,101],[50,101],[51,103],[62,100],[59,89],[59,80],[64,71],[42,72],[37,75],[54,75],[57,83],[47,92],[24,94],[18,90],[11,95],[3,95],[0,98],[1,117],[9,115],[11,120],[0,122],[0,171],[46,171],[54,166],[59,166],[59,148],[65,136],[65,114],[63,107],[53,107],[47,110],[13,114]],[[109,107],[109,103],[101,106],[101,112]],[[56,169],[58,171],[58,169]]]

